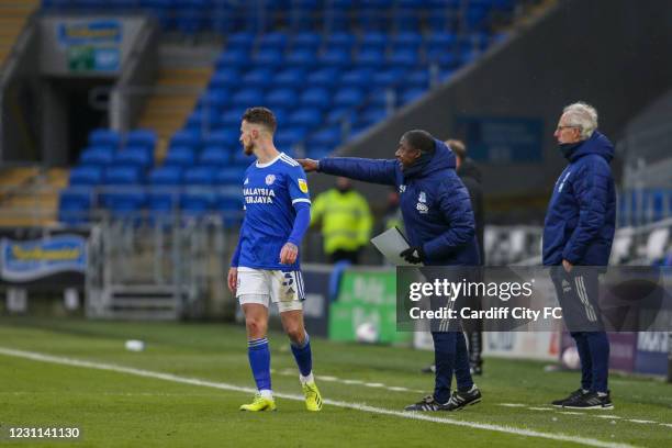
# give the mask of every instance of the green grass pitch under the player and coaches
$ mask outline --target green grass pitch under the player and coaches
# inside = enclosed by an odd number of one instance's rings
[[[400,411],[429,392],[433,376],[419,368],[430,352],[318,338],[312,339],[314,370],[327,404],[309,413],[292,399],[301,389],[287,338],[277,333],[269,338],[273,390],[288,396],[277,397],[275,413],[242,413],[238,405],[250,400],[249,392],[212,387],[254,387],[238,326],[0,318],[0,349],[206,382],[0,352],[0,446],[672,446],[672,385],[661,381],[612,376],[614,411],[563,413],[548,403],[575,389],[578,373],[486,359],[485,374],[477,378],[481,404],[423,421]],[[145,340],[146,349],[127,351],[126,339]],[[72,426],[81,430],[77,440],[8,438],[10,427]]]

